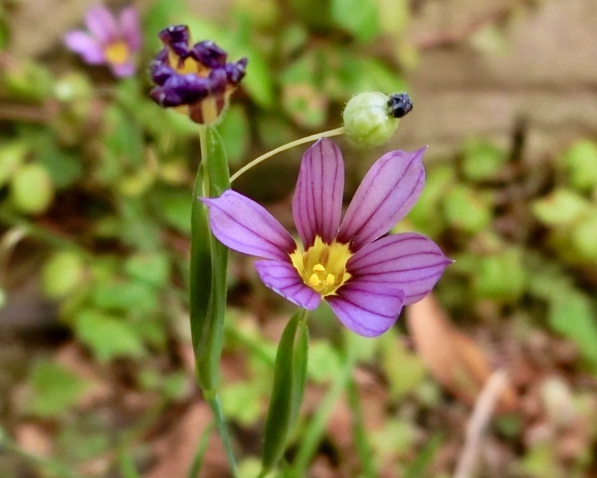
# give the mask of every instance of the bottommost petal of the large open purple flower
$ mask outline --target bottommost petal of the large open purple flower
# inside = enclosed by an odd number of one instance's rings
[[[376,337],[396,322],[404,290],[391,284],[370,284],[349,280],[325,300],[346,327],[364,337]]]

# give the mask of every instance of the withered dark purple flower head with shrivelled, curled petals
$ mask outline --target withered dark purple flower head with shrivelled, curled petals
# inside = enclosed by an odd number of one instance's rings
[[[151,66],[157,85],[152,99],[165,108],[183,109],[195,122],[216,121],[245,76],[247,59],[227,63],[226,51],[210,40],[191,46],[186,25],[169,26],[158,35],[164,50]]]

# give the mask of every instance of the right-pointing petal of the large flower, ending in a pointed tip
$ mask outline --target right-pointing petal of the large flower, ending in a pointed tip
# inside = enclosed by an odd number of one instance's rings
[[[452,261],[424,235],[405,232],[363,247],[346,264],[358,280],[404,290],[404,305],[426,296]]]

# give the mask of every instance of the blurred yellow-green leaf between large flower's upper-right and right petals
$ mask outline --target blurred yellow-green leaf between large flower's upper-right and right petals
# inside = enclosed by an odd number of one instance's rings
[[[458,184],[444,198],[444,216],[451,226],[474,234],[491,222],[487,195],[464,184]]]

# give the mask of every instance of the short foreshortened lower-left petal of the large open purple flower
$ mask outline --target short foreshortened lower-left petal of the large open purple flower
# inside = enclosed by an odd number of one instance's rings
[[[298,307],[314,310],[319,305],[321,296],[304,283],[290,262],[264,259],[255,261],[255,268],[267,287]]]

